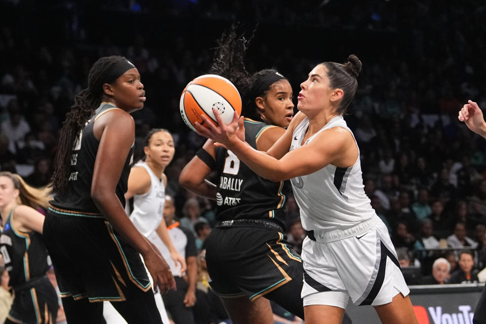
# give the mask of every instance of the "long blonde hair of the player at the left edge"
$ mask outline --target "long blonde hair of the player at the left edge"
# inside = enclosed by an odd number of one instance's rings
[[[29,206],[33,209],[39,207],[48,208],[51,197],[51,189],[48,187],[34,188],[25,183],[21,176],[8,171],[0,172],[0,177],[7,177],[14,183],[15,189],[20,191],[17,203]]]

